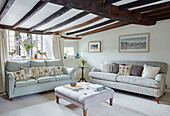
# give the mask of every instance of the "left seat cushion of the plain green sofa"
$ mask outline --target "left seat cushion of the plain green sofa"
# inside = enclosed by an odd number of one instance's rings
[[[38,80],[29,78],[29,79],[24,80],[24,81],[16,81],[15,87],[27,86],[27,85],[37,84],[37,83],[38,83]]]

